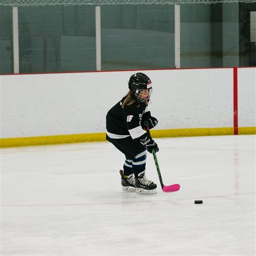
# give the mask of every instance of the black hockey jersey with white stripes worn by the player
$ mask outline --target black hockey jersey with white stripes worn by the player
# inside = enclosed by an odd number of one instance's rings
[[[125,97],[124,97],[125,98]],[[106,134],[112,139],[123,139],[131,136],[137,139],[145,131],[140,126],[140,120],[150,116],[150,111],[145,103],[127,104],[122,108],[124,98],[114,105],[106,115]]]

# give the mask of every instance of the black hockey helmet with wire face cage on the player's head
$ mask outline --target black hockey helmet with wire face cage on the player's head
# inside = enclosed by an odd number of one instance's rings
[[[152,82],[144,73],[136,73],[129,79],[129,89],[139,102],[147,102],[152,92]]]

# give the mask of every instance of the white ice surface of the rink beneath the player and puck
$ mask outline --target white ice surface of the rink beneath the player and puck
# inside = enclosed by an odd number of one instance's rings
[[[1,256],[255,255],[255,135],[156,139],[155,195],[124,192],[107,142],[1,150]],[[203,205],[194,204],[201,199]]]

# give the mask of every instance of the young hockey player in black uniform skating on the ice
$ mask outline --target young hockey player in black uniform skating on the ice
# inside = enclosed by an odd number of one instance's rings
[[[145,176],[146,151],[159,151],[146,133],[147,127],[158,123],[147,106],[152,83],[144,73],[136,73],[128,84],[130,91],[107,112],[106,139],[125,155],[124,170],[120,170],[122,190],[156,194],[157,185]]]

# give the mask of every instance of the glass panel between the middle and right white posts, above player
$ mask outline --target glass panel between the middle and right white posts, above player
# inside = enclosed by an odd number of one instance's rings
[[[174,68],[173,5],[103,5],[102,70]]]

